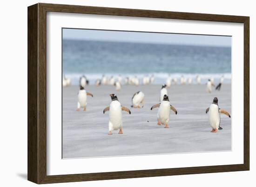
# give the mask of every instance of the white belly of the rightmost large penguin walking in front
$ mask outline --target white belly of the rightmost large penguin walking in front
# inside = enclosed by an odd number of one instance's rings
[[[213,129],[218,129],[220,126],[219,107],[216,104],[211,104],[208,111],[209,124]]]

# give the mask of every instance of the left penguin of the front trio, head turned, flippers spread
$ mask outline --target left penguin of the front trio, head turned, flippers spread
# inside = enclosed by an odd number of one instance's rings
[[[128,108],[121,106],[115,94],[110,94],[109,96],[112,101],[110,105],[103,110],[103,114],[109,110],[108,134],[112,135],[112,130],[118,129],[118,134],[123,134],[122,110],[127,111],[129,114],[131,114],[131,111]]]

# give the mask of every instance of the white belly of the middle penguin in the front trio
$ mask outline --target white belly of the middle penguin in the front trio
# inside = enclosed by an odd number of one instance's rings
[[[167,101],[162,101],[157,112],[157,121],[162,124],[168,124],[170,119],[170,103]]]

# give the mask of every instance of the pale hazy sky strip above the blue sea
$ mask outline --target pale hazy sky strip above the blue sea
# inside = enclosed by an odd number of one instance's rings
[[[63,39],[231,47],[229,36],[63,29]]]

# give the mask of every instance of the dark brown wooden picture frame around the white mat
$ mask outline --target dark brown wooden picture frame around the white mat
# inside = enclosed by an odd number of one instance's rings
[[[47,68],[46,68],[46,17],[47,12],[87,13],[163,19],[186,19],[243,23],[244,28],[244,152],[243,164],[168,168],[135,171],[118,171],[90,174],[47,175]],[[94,181],[138,177],[202,174],[249,170],[249,17],[181,13],[153,10],[74,6],[38,3],[28,7],[28,180],[38,183]]]

